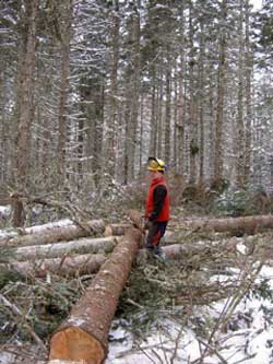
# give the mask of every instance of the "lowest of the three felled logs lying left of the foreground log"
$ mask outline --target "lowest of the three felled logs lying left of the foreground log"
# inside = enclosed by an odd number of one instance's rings
[[[34,261],[12,261],[0,265],[0,270],[15,270],[23,275],[45,278],[47,273],[74,275],[95,273],[105,262],[105,254],[85,254]]]

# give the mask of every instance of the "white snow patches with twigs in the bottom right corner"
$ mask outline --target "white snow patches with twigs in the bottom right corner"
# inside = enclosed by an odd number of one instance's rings
[[[230,277],[229,277],[230,278]],[[273,269],[264,267],[259,280],[269,280],[273,290]],[[228,298],[227,298],[228,300]],[[195,307],[193,316],[221,316],[227,300],[211,306]],[[236,308],[232,321],[235,326],[227,332],[217,332],[211,348],[216,353],[205,356],[204,363],[273,363],[273,302],[257,297],[244,298]],[[117,325],[117,322],[115,322]],[[190,325],[189,325],[190,326]],[[163,329],[164,328],[164,329]],[[106,364],[192,364],[202,355],[207,341],[188,328],[182,328],[174,321],[158,321],[146,340],[138,343],[132,334],[123,328],[110,331],[111,341]]]

